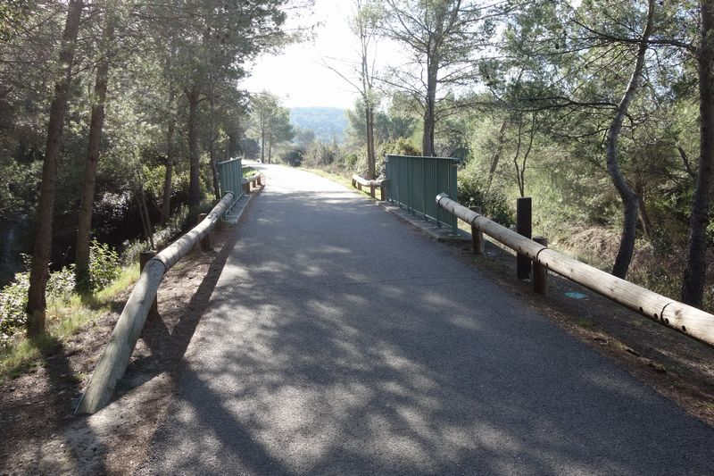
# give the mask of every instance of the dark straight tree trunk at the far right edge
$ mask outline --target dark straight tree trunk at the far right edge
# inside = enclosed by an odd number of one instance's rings
[[[702,46],[697,57],[699,66],[700,149],[699,173],[689,221],[689,253],[682,283],[682,301],[702,306],[707,272],[707,226],[709,225],[709,192],[711,167],[714,162],[714,2],[701,0]]]

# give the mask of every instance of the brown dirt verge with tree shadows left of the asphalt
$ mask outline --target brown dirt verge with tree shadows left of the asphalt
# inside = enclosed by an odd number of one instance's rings
[[[167,273],[159,289],[161,318],[147,321],[118,396],[102,413],[77,417],[71,412],[130,289],[115,299],[112,312],[51,349],[37,368],[0,387],[0,474],[123,474],[145,458],[170,395],[171,372],[238,233],[237,227],[218,230],[214,251],[195,251]]]

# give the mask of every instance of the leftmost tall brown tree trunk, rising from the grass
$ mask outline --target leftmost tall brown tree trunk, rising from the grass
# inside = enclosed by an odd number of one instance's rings
[[[82,0],[70,0],[67,21],[62,33],[60,50],[59,77],[54,84],[54,99],[50,107],[47,125],[47,143],[45,162],[42,167],[42,186],[37,205],[37,230],[32,255],[32,267],[29,273],[28,321],[27,331],[30,338],[45,333],[45,291],[49,276],[50,255],[52,254],[52,221],[54,215],[54,195],[57,182],[57,158],[62,148],[62,129],[67,98],[70,94],[71,68],[74,61],[74,49],[79,31],[79,19],[82,14]]]

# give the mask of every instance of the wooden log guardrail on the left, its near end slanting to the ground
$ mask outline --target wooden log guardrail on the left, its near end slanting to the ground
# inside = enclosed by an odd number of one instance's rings
[[[145,263],[144,271],[131,290],[129,300],[121,311],[119,321],[112,330],[109,343],[104,348],[75,413],[95,413],[109,403],[117,382],[127,370],[129,357],[144,329],[146,316],[154,303],[163,275],[208,236],[233,201],[233,192],[228,192],[203,221]]]

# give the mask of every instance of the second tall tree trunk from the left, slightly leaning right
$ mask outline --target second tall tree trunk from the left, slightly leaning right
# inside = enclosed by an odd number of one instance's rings
[[[90,289],[89,282],[89,235],[92,230],[92,207],[95,201],[96,165],[99,162],[100,146],[102,143],[102,129],[104,128],[104,104],[106,104],[106,90],[109,76],[110,43],[114,35],[112,5],[104,4],[105,18],[104,31],[102,32],[102,57],[96,69],[94,103],[92,116],[89,122],[89,146],[87,147],[87,161],[84,169],[84,189],[79,205],[79,222],[77,227],[77,250],[75,259],[75,273],[77,287],[80,291]]]

